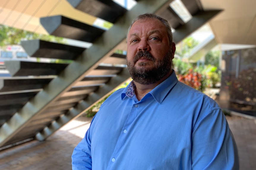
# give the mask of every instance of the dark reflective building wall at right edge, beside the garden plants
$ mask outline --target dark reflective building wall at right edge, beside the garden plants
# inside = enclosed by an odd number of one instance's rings
[[[222,52],[219,104],[256,116],[256,48]]]

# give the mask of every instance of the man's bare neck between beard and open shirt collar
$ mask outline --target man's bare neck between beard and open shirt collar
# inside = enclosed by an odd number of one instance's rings
[[[172,74],[172,70],[167,75],[165,75],[165,77],[163,77],[161,80],[159,80],[153,84],[149,84],[149,85],[143,85],[143,84],[140,84],[140,83],[134,81],[134,83],[136,85],[135,94],[136,94],[137,99],[140,101],[146,94],[148,94],[148,92],[150,92],[155,87],[157,87],[157,85],[162,83],[171,74]]]

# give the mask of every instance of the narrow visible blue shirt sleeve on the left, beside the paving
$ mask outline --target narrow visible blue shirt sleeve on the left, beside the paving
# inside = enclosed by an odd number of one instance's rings
[[[95,116],[94,116],[95,118]],[[92,119],[91,123],[93,122]],[[91,160],[91,139],[90,131],[91,125],[87,130],[84,138],[80,143],[75,147],[72,154],[72,170],[89,170],[92,169],[92,160]]]

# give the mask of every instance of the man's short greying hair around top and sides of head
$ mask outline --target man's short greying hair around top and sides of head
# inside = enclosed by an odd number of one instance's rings
[[[159,17],[158,15],[156,14],[142,14],[142,15],[139,15],[137,18],[135,18],[135,20],[132,21],[132,24],[130,25],[129,29],[128,29],[128,33],[127,33],[127,38],[126,38],[126,41],[128,40],[128,34],[130,32],[130,29],[132,27],[132,25],[138,21],[138,20],[146,20],[146,19],[157,19],[159,21],[161,21],[165,27],[166,27],[166,30],[167,30],[167,35],[168,35],[168,39],[169,39],[169,43],[170,43],[170,46],[172,45],[173,43],[173,33],[172,33],[172,29],[168,23],[167,20],[163,19],[162,17]]]

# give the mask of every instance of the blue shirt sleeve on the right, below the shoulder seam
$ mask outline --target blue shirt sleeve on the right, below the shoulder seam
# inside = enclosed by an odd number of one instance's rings
[[[221,109],[204,114],[193,128],[192,169],[239,169],[236,143]]]

